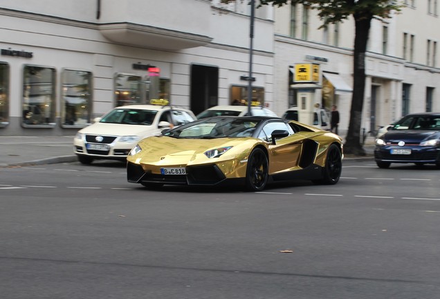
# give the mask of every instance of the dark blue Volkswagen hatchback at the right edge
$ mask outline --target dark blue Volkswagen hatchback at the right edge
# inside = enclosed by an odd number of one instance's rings
[[[435,164],[440,167],[440,113],[409,114],[376,138],[378,167],[391,163]]]

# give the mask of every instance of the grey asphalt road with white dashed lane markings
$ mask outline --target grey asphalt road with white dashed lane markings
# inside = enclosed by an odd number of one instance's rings
[[[440,298],[439,171],[352,161],[255,193],[1,168],[0,297]]]

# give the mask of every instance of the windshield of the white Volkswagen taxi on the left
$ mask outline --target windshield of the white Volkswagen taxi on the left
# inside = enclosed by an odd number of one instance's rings
[[[156,114],[156,110],[113,109],[101,118],[100,123],[152,125]]]

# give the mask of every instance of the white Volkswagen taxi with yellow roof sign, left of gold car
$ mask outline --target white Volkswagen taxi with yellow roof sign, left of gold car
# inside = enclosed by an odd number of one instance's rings
[[[157,105],[116,107],[77,132],[73,141],[75,154],[83,164],[95,159],[125,161],[131,148],[141,139],[193,120],[196,116],[192,111],[183,108]]]

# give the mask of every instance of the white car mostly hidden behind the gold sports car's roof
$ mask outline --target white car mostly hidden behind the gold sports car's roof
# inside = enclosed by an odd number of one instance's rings
[[[250,111],[253,116],[272,116],[278,117],[275,112],[270,109],[252,106]],[[208,118],[212,116],[246,116],[248,114],[248,106],[241,105],[224,105],[224,106],[214,106],[197,115],[197,119]]]

